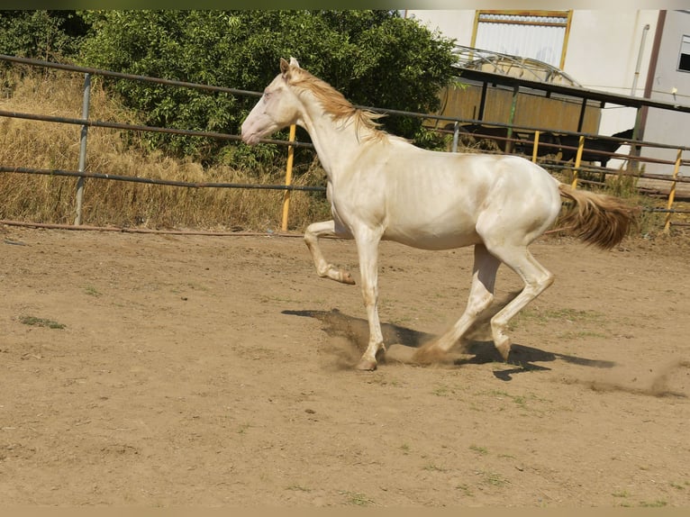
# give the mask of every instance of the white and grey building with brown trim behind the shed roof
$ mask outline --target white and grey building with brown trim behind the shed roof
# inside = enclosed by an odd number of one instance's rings
[[[586,89],[690,105],[690,11],[408,10],[404,15],[461,46],[544,61]],[[607,105],[599,133],[631,128],[636,115],[634,108]],[[690,114],[643,108],[641,118],[645,141],[690,146]],[[646,148],[642,156],[674,160],[676,152]],[[689,157],[685,151],[684,159]],[[671,174],[673,168],[646,164],[646,172]]]

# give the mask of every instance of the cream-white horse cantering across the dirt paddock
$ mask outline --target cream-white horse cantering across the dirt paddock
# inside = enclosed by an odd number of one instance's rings
[[[383,131],[380,116],[356,108],[295,58],[281,58],[280,73],[242,122],[241,139],[253,145],[291,124],[311,136],[326,172],[332,219],[309,224],[304,241],[320,277],[352,285],[349,271],[323,257],[319,238],[355,240],[369,331],[356,368],[374,370],[377,359],[385,358],[377,309],[381,240],[430,250],[474,246],[465,312],[415,352],[420,361],[448,352],[494,300],[499,266],[513,269],[522,278],[522,291],[490,320],[495,348],[507,361],[508,322],[554,280],[528,245],[556,222],[561,196],[570,203],[562,223],[603,249],[622,241],[634,211],[613,196],[562,184],[528,159],[422,150]]]

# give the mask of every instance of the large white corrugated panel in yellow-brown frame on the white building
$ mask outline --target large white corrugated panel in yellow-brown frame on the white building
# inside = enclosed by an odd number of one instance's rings
[[[569,21],[568,11],[477,11],[472,46],[563,68]]]

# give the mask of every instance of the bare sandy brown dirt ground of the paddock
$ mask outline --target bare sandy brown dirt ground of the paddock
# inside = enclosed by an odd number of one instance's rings
[[[352,242],[323,248],[359,278]],[[359,287],[299,238],[0,227],[0,501],[689,505],[688,248],[532,250],[556,282],[508,363],[479,332],[361,373]],[[389,343],[458,318],[471,256],[381,246]]]

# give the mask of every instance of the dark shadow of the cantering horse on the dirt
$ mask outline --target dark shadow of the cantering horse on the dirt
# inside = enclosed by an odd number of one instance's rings
[[[323,331],[330,336],[338,336],[350,341],[352,347],[363,351],[368,343],[368,322],[362,318],[356,318],[341,313],[338,309],[331,311],[283,311],[284,314],[315,318],[322,322]],[[386,343],[396,343],[403,347],[419,349],[427,342],[434,340],[438,336],[427,332],[414,331],[406,327],[393,323],[382,323],[381,331]],[[505,363],[504,359],[495,349],[492,340],[468,340],[462,345],[463,357],[455,358],[452,361],[454,366],[467,364],[481,365],[486,363],[500,362]],[[611,368],[615,365],[613,361],[601,361],[595,359],[578,358],[566,354],[547,352],[541,349],[525,347],[513,344],[507,364],[515,366],[510,369],[495,370],[494,375],[504,381],[511,380],[514,374],[528,371],[550,370],[534,363],[551,362],[563,360],[571,364],[583,367]]]

